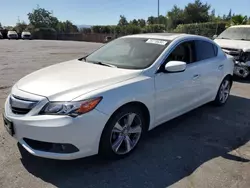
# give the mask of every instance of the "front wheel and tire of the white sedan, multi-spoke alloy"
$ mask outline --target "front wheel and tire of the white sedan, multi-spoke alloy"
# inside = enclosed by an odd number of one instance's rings
[[[128,118],[133,119],[132,124],[127,122]],[[138,146],[146,131],[146,123],[140,108],[134,105],[122,107],[111,116],[103,130],[99,154],[106,159],[120,159],[128,156]],[[126,128],[129,124],[130,128],[129,126]]]

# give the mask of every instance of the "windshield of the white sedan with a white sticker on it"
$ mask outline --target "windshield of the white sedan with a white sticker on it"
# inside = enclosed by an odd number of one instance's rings
[[[125,69],[144,69],[152,65],[169,42],[148,38],[120,38],[87,56],[86,61]]]

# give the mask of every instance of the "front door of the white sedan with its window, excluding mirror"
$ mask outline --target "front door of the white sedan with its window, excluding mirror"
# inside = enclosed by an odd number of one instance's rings
[[[184,61],[187,68],[179,73],[157,73],[155,76],[155,121],[163,123],[177,117],[198,104],[202,92],[200,70],[195,64],[194,42],[179,44],[166,58],[169,61]]]

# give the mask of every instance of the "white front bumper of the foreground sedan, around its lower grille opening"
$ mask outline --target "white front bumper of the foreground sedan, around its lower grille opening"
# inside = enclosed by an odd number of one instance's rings
[[[108,116],[92,110],[76,118],[59,115],[16,115],[12,113],[9,97],[4,116],[13,122],[13,137],[31,154],[39,157],[70,160],[98,153],[100,137]],[[25,140],[71,144],[79,151],[73,153],[47,152],[34,149]]]

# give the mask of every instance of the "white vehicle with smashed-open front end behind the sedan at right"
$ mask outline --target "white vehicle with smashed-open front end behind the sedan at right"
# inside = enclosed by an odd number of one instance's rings
[[[234,57],[234,74],[241,78],[250,77],[250,25],[229,27],[219,36],[214,36],[214,41]]]

